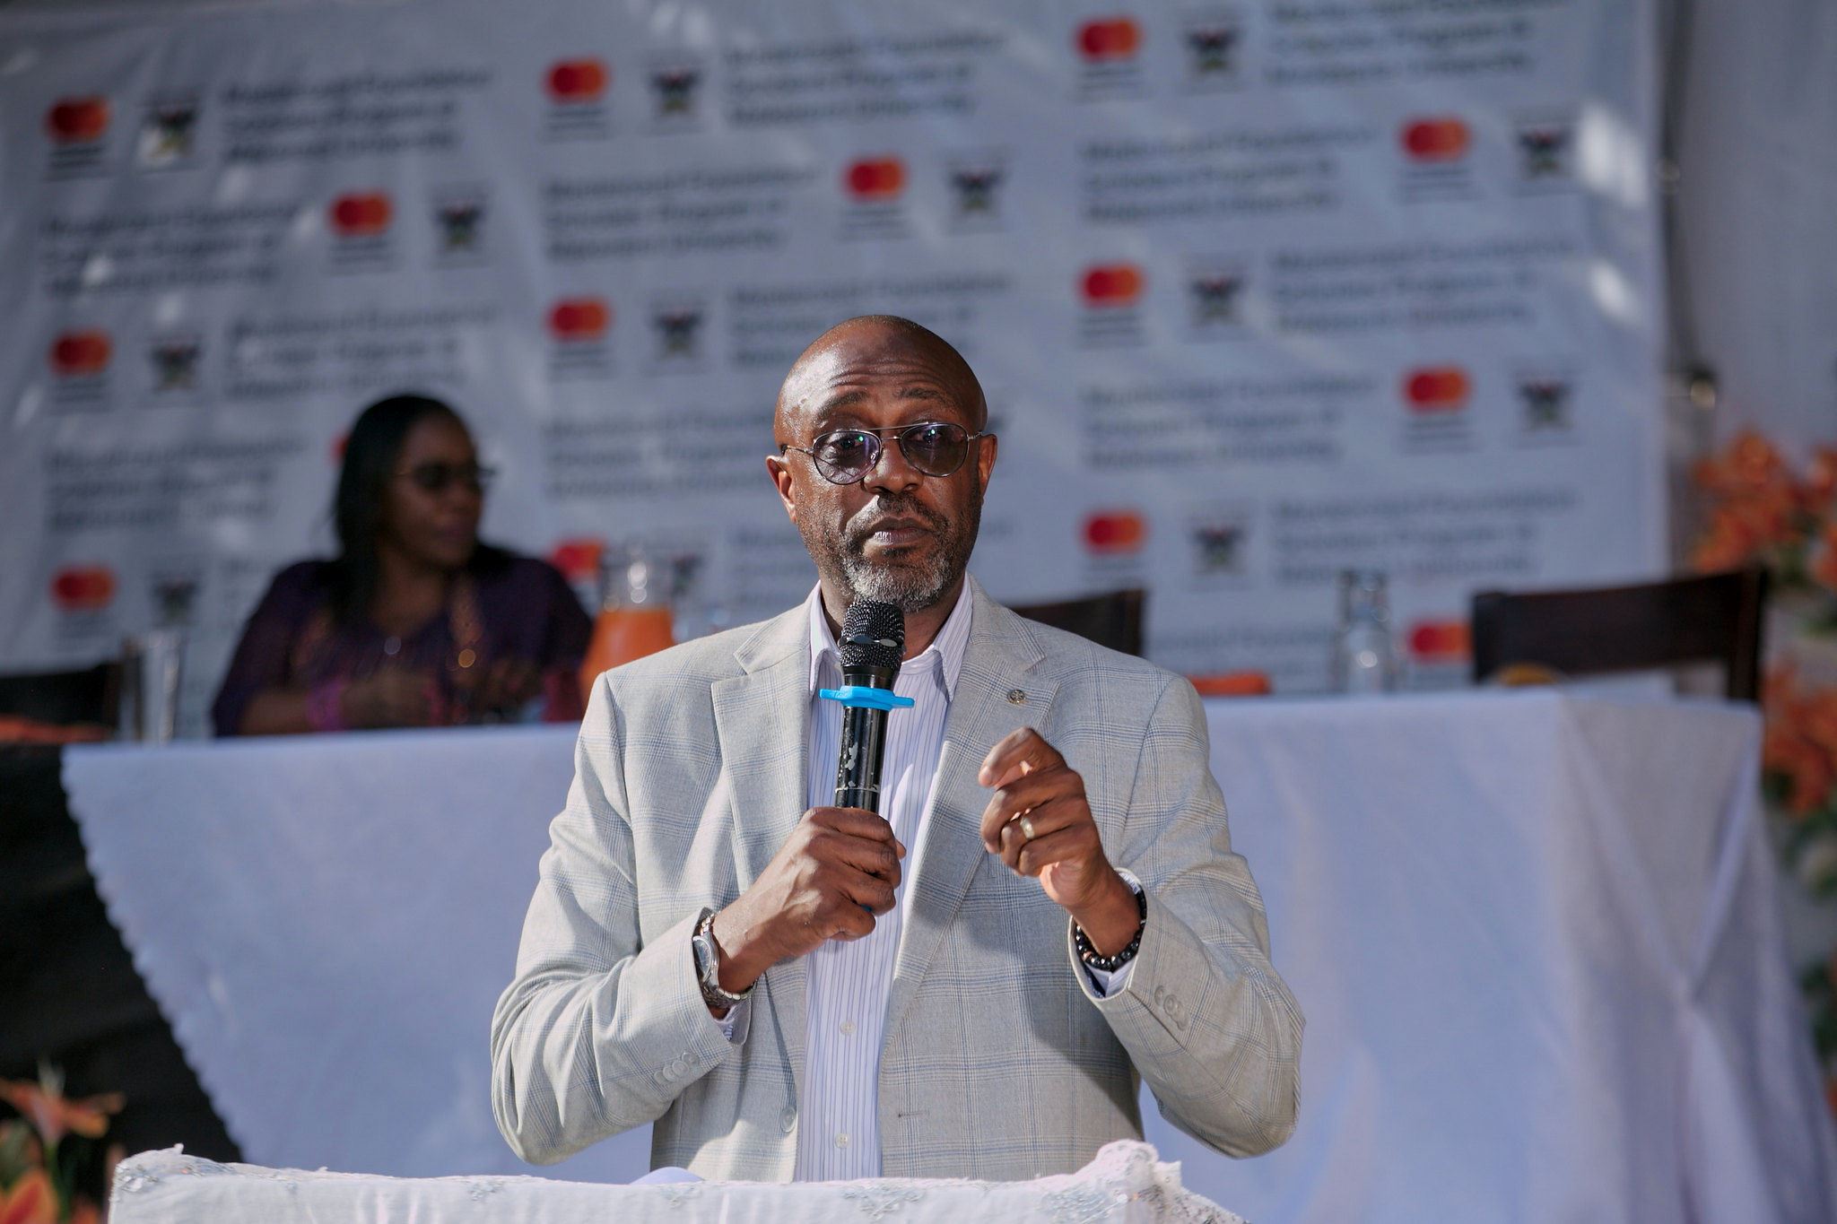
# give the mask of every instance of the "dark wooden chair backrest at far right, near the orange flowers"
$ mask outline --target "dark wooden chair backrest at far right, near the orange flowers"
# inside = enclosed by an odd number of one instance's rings
[[[1528,662],[1565,675],[1719,662],[1732,701],[1760,701],[1767,571],[1633,587],[1473,596],[1473,679]]]

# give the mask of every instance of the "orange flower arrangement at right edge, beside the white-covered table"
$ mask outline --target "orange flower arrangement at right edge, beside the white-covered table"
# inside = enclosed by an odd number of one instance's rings
[[[1789,875],[1824,908],[1826,951],[1800,974],[1837,1112],[1837,448],[1795,468],[1754,431],[1697,464],[1708,521],[1699,569],[1765,565],[1767,624],[1762,785]]]

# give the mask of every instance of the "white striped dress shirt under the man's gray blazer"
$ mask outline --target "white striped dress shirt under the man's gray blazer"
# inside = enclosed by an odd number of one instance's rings
[[[880,765],[880,815],[906,846],[895,905],[874,919],[865,940],[830,940],[808,956],[805,1000],[805,1085],[797,1110],[799,1182],[841,1182],[880,1176],[880,1046],[885,1037],[893,962],[900,945],[900,912],[918,848],[924,839],[937,763],[944,751],[944,719],[957,692],[963,651],[970,640],[968,587],[944,626],[917,657],[900,664],[893,692],[911,697],[911,708],[887,718],[885,756]],[[806,600],[810,611],[810,763],[806,802],[836,802],[836,752],[841,740],[841,705],[817,697],[821,688],[841,686],[836,635],[823,615],[823,589]],[[1133,877],[1128,877],[1133,888]],[[1132,965],[1130,965],[1132,967]],[[1099,993],[1128,985],[1128,969],[1115,974],[1089,971]],[[722,1020],[727,1040],[744,1042],[751,1000]]]

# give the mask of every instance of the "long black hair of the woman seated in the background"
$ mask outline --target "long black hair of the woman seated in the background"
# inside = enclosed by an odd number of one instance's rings
[[[382,530],[388,486],[402,462],[408,431],[428,417],[446,417],[465,429],[465,418],[441,400],[391,395],[366,407],[345,439],[338,492],[332,495],[338,560],[331,567],[331,600],[340,624],[364,617],[377,595],[377,534]]]

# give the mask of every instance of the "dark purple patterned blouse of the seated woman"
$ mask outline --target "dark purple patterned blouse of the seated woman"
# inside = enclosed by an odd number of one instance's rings
[[[399,639],[369,618],[334,626],[331,574],[331,562],[299,562],[276,574],[242,626],[242,640],[211,707],[219,736],[239,734],[242,712],[266,688],[334,695],[338,684],[364,679],[384,664],[424,677],[437,725],[520,714],[474,708],[470,701],[470,686],[502,659],[527,661],[542,673],[544,721],[580,718],[577,673],[592,622],[560,571],[547,562],[479,545],[472,565],[454,584],[446,615]]]

